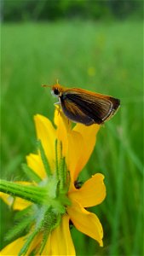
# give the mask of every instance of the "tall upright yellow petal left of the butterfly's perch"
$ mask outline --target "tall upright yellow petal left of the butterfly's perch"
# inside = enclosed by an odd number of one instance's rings
[[[51,170],[55,169],[55,140],[56,132],[54,126],[51,124],[49,119],[43,115],[37,114],[34,117],[37,138],[41,140],[43,149],[49,160],[49,166]]]

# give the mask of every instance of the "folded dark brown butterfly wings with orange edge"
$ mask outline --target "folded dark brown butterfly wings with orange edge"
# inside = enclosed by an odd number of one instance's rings
[[[112,117],[120,103],[111,96],[74,89],[63,92],[60,102],[67,118],[84,125],[102,124]]]

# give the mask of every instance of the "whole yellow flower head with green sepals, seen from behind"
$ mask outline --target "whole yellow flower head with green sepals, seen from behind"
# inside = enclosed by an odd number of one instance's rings
[[[85,207],[96,206],[104,200],[104,176],[97,173],[82,186],[77,182],[79,172],[94,149],[100,125],[88,127],[77,124],[72,128],[72,124],[59,108],[55,108],[55,126],[40,114],[34,120],[37,139],[41,143],[38,154],[29,154],[26,157],[32,183],[21,183],[21,186],[30,189],[29,185],[36,189],[39,186],[42,189],[41,198],[38,197],[37,190],[34,195],[39,202],[38,206],[20,197],[15,198],[14,209],[20,212],[31,209],[27,218],[30,218],[32,225],[26,236],[4,247],[2,255],[10,255],[11,252],[13,255],[29,255],[32,252],[37,255],[75,255],[69,229],[70,220],[79,231],[102,246],[101,223]],[[3,194],[3,200],[10,204],[9,199],[12,197]],[[43,207],[39,207],[42,205]],[[40,217],[44,219],[43,224]]]

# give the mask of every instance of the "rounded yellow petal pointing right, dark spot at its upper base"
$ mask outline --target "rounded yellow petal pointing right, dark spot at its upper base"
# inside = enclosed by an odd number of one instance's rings
[[[75,189],[69,193],[69,198],[78,201],[83,207],[94,207],[100,204],[106,197],[106,186],[103,183],[104,176],[95,174],[84,183],[81,189]]]

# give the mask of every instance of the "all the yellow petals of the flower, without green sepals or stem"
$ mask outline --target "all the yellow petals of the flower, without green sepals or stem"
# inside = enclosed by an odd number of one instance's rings
[[[80,188],[78,188],[78,174],[82,171],[90,154],[92,153],[96,134],[100,125],[85,126],[81,124],[71,127],[71,123],[61,111],[55,109],[55,126],[49,119],[37,114],[34,117],[37,138],[43,145],[43,150],[49,161],[50,170],[55,173],[55,141],[57,141],[57,158],[60,165],[60,154],[66,160],[66,169],[69,171],[70,183],[66,195],[71,204],[66,204],[66,212],[61,213],[60,224],[55,226],[43,245],[43,255],[75,255],[75,249],[72,243],[72,237],[69,230],[69,221],[85,235],[92,237],[98,241],[100,246],[103,245],[103,230],[99,219],[92,212],[88,212],[85,207],[93,207],[100,204],[106,196],[106,187],[103,183],[104,176],[101,173],[90,177]],[[60,148],[61,145],[61,148]],[[60,150],[62,152],[60,153]],[[42,155],[29,154],[26,157],[27,165],[40,177],[42,182],[47,179]],[[66,180],[69,179],[66,177]],[[3,200],[9,205],[12,203],[12,197],[1,194]],[[16,210],[24,210],[30,206],[32,202],[25,201],[16,197],[13,201],[13,208]],[[26,236],[22,236],[4,247],[1,255],[18,255],[21,247],[26,242]],[[43,239],[43,231],[34,236],[29,245],[26,255],[32,252],[39,253],[39,244]]]

